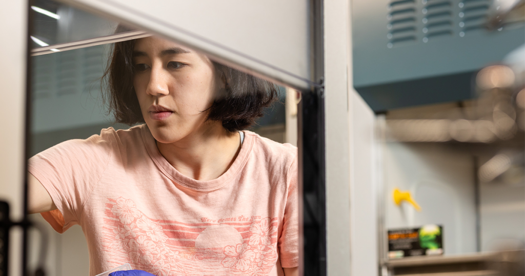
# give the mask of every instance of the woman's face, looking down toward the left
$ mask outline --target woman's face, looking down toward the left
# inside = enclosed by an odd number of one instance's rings
[[[218,81],[204,55],[158,37],[138,39],[133,48],[133,87],[153,137],[181,140],[205,126]]]

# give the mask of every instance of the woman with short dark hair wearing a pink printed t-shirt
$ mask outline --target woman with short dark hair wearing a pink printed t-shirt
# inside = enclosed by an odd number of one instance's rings
[[[145,124],[31,158],[30,212],[80,224],[90,275],[297,275],[297,149],[241,131],[276,88],[158,37],[106,74],[117,121]]]

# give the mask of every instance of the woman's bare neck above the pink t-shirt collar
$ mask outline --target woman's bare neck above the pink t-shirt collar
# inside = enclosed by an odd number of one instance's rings
[[[239,134],[231,134],[220,122],[211,122],[206,128],[171,144],[156,144],[177,171],[204,181],[223,175],[240,151]]]

